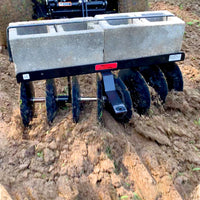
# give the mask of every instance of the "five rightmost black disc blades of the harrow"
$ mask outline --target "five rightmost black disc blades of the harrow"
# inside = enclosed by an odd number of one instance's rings
[[[99,78],[97,80],[98,119],[101,120],[102,96],[105,93],[102,89],[102,81]],[[109,102],[105,103],[105,108],[112,113],[116,120],[124,123],[130,120],[132,108],[140,115],[145,114],[151,105],[149,86],[154,88],[162,103],[165,103],[168,91],[182,91],[183,78],[178,65],[176,63],[167,63],[159,66],[120,70],[118,77],[115,77],[115,87],[127,108],[127,113],[122,115],[115,114]],[[102,92],[100,92],[101,90]]]

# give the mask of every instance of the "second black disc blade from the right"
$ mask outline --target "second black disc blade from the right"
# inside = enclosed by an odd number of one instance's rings
[[[163,72],[157,66],[140,67],[139,72],[146,82],[155,89],[164,103],[168,94],[168,86]]]

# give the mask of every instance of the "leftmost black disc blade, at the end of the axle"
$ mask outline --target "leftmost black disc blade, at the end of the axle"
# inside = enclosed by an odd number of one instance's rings
[[[28,126],[33,118],[34,103],[30,101],[34,97],[32,82],[22,82],[20,87],[20,112],[24,126]]]

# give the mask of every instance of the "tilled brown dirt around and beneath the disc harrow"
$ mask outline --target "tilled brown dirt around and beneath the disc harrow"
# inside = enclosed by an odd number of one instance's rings
[[[189,2],[193,7],[194,1]],[[186,59],[179,65],[184,91],[170,92],[165,105],[153,101],[148,115],[134,113],[126,125],[106,111],[98,124],[96,103],[83,106],[78,124],[72,123],[68,105],[48,125],[45,105],[39,103],[24,129],[14,65],[0,54],[0,184],[13,199],[198,199],[200,27],[194,20],[200,18],[195,8],[151,2],[151,9],[166,9],[194,22],[186,25]],[[95,75],[80,76],[79,81],[82,95],[96,95]],[[63,93],[66,79],[56,79],[56,85]],[[34,86],[36,95],[43,96],[44,81]]]

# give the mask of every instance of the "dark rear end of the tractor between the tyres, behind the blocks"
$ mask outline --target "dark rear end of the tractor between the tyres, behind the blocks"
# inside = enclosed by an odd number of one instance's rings
[[[107,0],[32,0],[34,19],[38,18],[73,18],[104,14]]]

